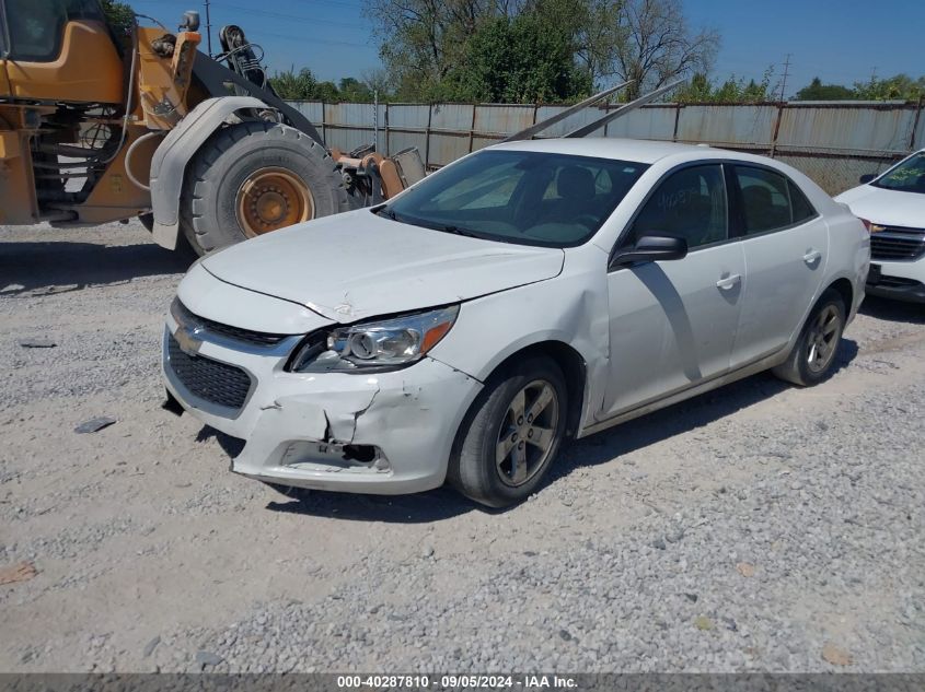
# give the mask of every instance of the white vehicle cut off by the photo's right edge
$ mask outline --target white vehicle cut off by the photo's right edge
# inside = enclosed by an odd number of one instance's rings
[[[867,293],[925,303],[925,150],[835,198],[869,224]]]

